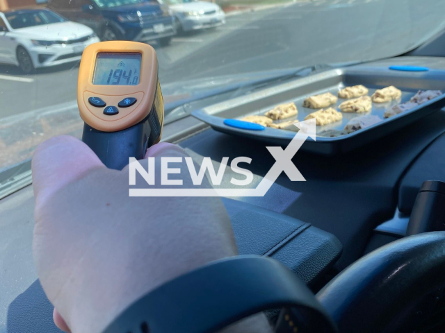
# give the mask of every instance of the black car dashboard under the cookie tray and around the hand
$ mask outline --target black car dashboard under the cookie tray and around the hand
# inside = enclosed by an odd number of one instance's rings
[[[445,79],[443,58],[402,57],[356,67],[389,65],[428,65],[443,70]],[[264,93],[273,89],[279,88]],[[275,162],[268,144],[217,132],[193,117],[165,125],[163,140],[179,144],[197,163],[203,157],[250,157],[252,187]],[[445,111],[438,110],[348,153],[298,151],[293,163],[305,182],[281,173],[264,197],[223,198],[240,253],[274,257],[318,291],[365,253],[403,237],[422,182],[445,178],[444,145]],[[221,187],[233,186],[223,179]],[[32,185],[0,200],[0,333],[60,332],[33,266],[33,207]]]

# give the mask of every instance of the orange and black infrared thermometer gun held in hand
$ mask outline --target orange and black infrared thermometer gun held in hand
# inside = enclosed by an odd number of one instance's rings
[[[82,141],[110,169],[140,160],[161,140],[164,105],[156,52],[138,42],[99,42],[83,51],[77,83]]]

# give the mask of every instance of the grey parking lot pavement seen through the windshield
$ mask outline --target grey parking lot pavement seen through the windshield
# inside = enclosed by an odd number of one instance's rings
[[[406,1],[410,6],[404,9]],[[411,20],[411,32],[407,33],[403,18],[427,5],[437,10]],[[442,0],[298,0],[236,12],[227,16],[223,26],[177,35],[169,46],[154,44],[159,78],[165,85],[393,56],[401,53],[401,46],[412,45],[411,40],[420,40],[442,24],[444,10]],[[15,67],[0,66],[0,119],[75,101],[77,75],[76,64],[40,69],[31,76],[23,76]]]

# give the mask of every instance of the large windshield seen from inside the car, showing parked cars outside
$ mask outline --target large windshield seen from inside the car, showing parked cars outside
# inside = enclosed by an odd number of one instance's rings
[[[17,166],[23,171],[49,137],[81,137],[79,62],[93,43],[133,40],[154,47],[168,123],[257,89],[252,82],[268,87],[301,67],[403,55],[445,28],[443,0],[158,3],[0,1],[0,174],[11,175]],[[26,27],[35,28],[20,29]],[[110,82],[121,73],[124,80],[129,71],[113,72]],[[17,181],[5,177],[0,191]]]

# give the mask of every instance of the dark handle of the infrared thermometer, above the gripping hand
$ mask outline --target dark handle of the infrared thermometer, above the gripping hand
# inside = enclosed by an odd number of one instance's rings
[[[161,126],[154,110],[143,121],[118,132],[102,132],[87,123],[83,126],[82,141],[94,151],[109,169],[122,170],[129,157],[144,158],[147,148],[161,134]]]

